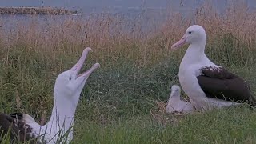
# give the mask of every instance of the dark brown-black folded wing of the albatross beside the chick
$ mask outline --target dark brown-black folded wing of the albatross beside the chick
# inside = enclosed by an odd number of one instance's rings
[[[249,86],[242,78],[223,68],[203,67],[198,83],[208,98],[218,98],[233,102],[254,102]]]

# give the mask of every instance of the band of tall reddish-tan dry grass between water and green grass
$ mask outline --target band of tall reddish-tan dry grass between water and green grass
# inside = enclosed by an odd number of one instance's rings
[[[211,54],[216,55],[223,49],[234,51],[238,58],[242,58],[247,50],[248,54],[254,54],[255,13],[247,9],[240,1],[232,2],[224,14],[218,14],[210,2],[198,7],[196,22],[206,29]],[[142,30],[140,16],[130,20],[118,14],[91,14],[86,19],[70,17],[63,22],[50,22],[48,26],[41,26],[40,21],[34,18],[25,26],[17,23],[14,31],[4,31],[2,26],[1,47],[5,48],[2,59],[6,59],[10,49],[20,46],[49,58],[55,58],[60,52],[73,54],[84,46],[91,46],[97,52],[95,57],[102,62],[108,58],[105,55],[116,55],[122,51],[142,65],[151,64],[162,54],[170,54],[168,47],[181,38],[192,18],[194,14],[186,19],[182,14],[169,14],[165,22],[148,31]],[[221,56],[218,54],[218,57]],[[5,60],[3,63],[8,62]]]

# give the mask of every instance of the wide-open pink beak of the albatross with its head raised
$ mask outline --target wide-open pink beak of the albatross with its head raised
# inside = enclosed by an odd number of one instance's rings
[[[82,56],[79,59],[79,61],[70,69],[71,71],[74,71],[74,73],[77,75],[77,78],[82,77],[82,76],[83,77],[89,76],[89,74],[91,74],[95,69],[98,68],[98,66],[100,66],[99,63],[95,63],[94,66],[92,66],[89,70],[87,70],[86,72],[78,75],[79,71],[82,68],[83,63],[86,61],[86,56],[89,53],[89,51],[92,51],[91,48],[86,47],[86,49],[83,50]]]

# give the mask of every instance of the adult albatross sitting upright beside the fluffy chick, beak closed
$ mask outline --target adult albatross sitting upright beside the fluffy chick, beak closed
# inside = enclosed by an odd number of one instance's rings
[[[215,65],[205,54],[206,31],[202,26],[190,26],[171,50],[189,44],[179,67],[179,82],[197,110],[238,105],[247,102],[255,106],[250,87],[238,75]]]

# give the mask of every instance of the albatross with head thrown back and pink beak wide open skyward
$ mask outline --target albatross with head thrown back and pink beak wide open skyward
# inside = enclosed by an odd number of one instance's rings
[[[74,114],[82,89],[90,74],[100,66],[99,63],[95,63],[86,72],[78,74],[89,51],[91,51],[89,47],[83,50],[79,61],[70,70],[58,75],[54,85],[54,107],[46,125],[39,125],[28,114],[0,114],[0,126],[4,132],[6,127],[10,127],[14,133],[26,136],[21,139],[22,141],[38,138],[39,142],[43,143],[62,143],[62,141],[69,143],[73,139]],[[23,127],[22,130],[17,131],[16,125]],[[64,134],[66,137],[61,139]]]

